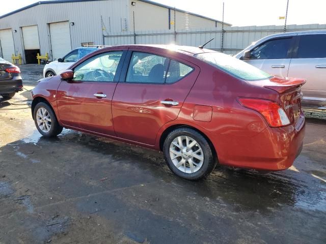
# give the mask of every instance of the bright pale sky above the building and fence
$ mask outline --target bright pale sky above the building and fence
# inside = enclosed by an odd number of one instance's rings
[[[284,25],[287,0],[152,0],[178,9],[222,20],[233,26]],[[1,0],[0,15],[38,2]],[[326,0],[289,0],[287,24],[326,24]],[[1,21],[1,20],[0,20]]]

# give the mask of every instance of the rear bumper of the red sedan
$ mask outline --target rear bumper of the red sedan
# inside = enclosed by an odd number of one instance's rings
[[[211,139],[221,165],[274,171],[291,167],[302,150],[304,136],[305,117],[301,112],[295,125],[267,127],[251,138],[214,135]]]

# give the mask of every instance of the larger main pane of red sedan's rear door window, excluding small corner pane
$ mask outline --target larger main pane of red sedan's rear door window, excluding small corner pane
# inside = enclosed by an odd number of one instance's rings
[[[169,59],[167,57],[145,52],[133,52],[126,81],[164,83],[168,64]]]

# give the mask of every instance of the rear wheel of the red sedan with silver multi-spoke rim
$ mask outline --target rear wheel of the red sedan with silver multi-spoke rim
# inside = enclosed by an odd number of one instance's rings
[[[216,166],[216,157],[208,141],[189,128],[178,128],[167,136],[163,152],[169,168],[178,176],[197,180]]]

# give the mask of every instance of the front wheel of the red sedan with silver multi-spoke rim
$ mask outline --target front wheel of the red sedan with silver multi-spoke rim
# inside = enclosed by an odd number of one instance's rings
[[[34,121],[37,130],[45,137],[55,137],[63,130],[52,108],[43,102],[34,108]]]

